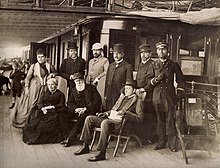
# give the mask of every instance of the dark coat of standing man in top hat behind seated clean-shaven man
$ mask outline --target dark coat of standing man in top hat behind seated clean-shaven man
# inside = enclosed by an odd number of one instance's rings
[[[133,80],[132,66],[122,61],[117,67],[113,62],[109,65],[105,81],[105,98],[107,110],[110,110],[120,96],[126,81]]]

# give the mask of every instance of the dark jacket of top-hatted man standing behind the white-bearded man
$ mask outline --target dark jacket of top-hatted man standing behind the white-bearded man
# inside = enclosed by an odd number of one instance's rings
[[[85,60],[78,57],[76,60],[72,58],[64,59],[61,67],[59,69],[59,75],[67,80],[67,85],[70,88],[75,87],[74,81],[70,80],[70,75],[73,75],[76,72],[85,73],[86,63]]]

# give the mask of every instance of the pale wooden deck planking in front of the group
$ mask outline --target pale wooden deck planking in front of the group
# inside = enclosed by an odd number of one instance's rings
[[[163,149],[154,151],[153,145],[139,148],[134,141],[128,144],[127,152],[122,153],[120,145],[117,157],[113,158],[115,140],[112,140],[107,149],[107,160],[88,162],[87,159],[97,154],[96,144],[89,154],[75,156],[81,145],[69,148],[60,144],[27,145],[22,141],[20,129],[13,128],[10,124],[10,96],[0,96],[0,167],[1,168],[219,168],[220,152],[187,151],[189,165],[184,163],[181,150],[172,153]],[[97,143],[97,142],[96,142]]]

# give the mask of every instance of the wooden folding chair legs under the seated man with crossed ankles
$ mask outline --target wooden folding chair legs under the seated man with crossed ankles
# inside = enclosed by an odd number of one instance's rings
[[[111,137],[116,137],[117,138],[116,146],[115,146],[115,149],[114,149],[114,152],[113,152],[113,157],[115,157],[116,154],[117,154],[117,151],[118,151],[121,139],[125,139],[126,140],[125,144],[124,144],[124,147],[123,147],[123,150],[122,150],[122,153],[126,152],[129,140],[131,138],[134,138],[138,142],[139,146],[143,147],[140,138],[135,133],[128,133],[127,134],[127,133],[123,132],[124,126],[125,126],[126,122],[127,122],[126,119],[123,119],[121,127],[119,129],[119,132],[118,133],[112,133],[112,134],[109,135],[108,144],[109,144],[109,142],[111,140]],[[101,128],[94,128],[94,133],[93,133],[93,138],[92,138],[92,142],[91,142],[91,145],[90,145],[90,150],[92,150],[92,148],[94,146],[94,143],[95,143],[95,139],[96,139],[97,133],[100,132],[100,131],[101,131]]]

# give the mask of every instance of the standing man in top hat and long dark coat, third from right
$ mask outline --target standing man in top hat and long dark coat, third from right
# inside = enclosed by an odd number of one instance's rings
[[[112,109],[125,82],[133,80],[132,66],[124,60],[124,56],[123,44],[115,44],[113,47],[115,62],[109,65],[105,81],[104,97],[107,110]]]

